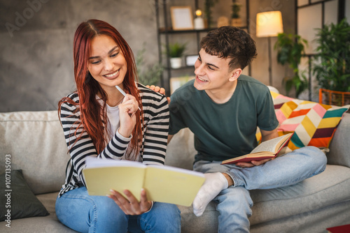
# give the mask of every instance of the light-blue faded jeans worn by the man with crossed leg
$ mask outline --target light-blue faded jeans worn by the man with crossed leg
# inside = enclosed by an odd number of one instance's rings
[[[197,161],[193,170],[225,172],[235,184],[222,190],[214,198],[218,202],[218,232],[249,232],[249,220],[253,201],[248,190],[290,186],[325,170],[327,158],[314,146],[305,146],[264,165],[241,168],[221,165],[219,161]]]

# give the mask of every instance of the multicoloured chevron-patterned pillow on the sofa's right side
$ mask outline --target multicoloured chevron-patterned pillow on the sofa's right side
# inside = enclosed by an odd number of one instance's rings
[[[290,100],[276,110],[279,135],[295,132],[288,142],[288,151],[302,146],[328,147],[339,121],[349,107]]]

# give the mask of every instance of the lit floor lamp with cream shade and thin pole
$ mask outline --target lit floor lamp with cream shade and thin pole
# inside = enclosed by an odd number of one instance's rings
[[[269,86],[272,86],[271,37],[283,33],[281,11],[267,11],[256,15],[256,37],[268,38]]]

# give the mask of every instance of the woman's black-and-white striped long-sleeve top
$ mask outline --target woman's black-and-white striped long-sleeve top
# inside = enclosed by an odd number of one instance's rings
[[[141,84],[138,84],[138,88],[144,110],[143,137],[139,156],[144,164],[164,165],[169,130],[169,106],[167,98]],[[76,103],[79,101],[77,93],[71,93],[67,97]],[[71,159],[66,167],[66,180],[62,186],[62,190],[59,192],[59,197],[69,190],[78,188],[81,185],[85,186],[83,169],[87,157],[94,156],[97,158],[120,160],[131,140],[131,137],[123,137],[117,130],[104,151],[97,154],[91,137],[82,126],[78,128],[76,133],[76,128],[80,121],[80,112],[77,111],[77,107],[77,105],[71,105],[69,103],[61,105],[60,120]],[[82,131],[82,137],[77,140],[76,135],[80,135]]]

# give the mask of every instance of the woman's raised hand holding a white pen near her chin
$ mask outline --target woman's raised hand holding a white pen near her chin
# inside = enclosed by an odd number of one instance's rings
[[[118,132],[123,137],[130,137],[137,121],[139,103],[134,96],[127,94],[119,105],[120,128]]]

